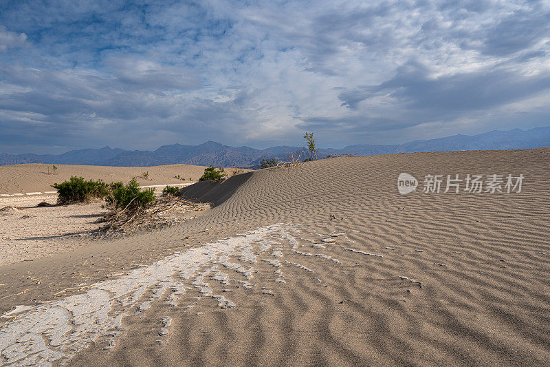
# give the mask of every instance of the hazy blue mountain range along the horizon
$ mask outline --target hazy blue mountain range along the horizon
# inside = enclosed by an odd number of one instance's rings
[[[550,127],[537,127],[528,131],[521,129],[501,132],[498,130],[474,136],[455,135],[447,138],[416,140],[395,145],[349,145],[342,149],[318,149],[318,157],[354,154],[410,153],[415,151],[456,151],[489,149],[529,149],[550,146]],[[58,165],[101,165],[118,167],[147,167],[186,163],[188,165],[214,165],[216,167],[258,167],[265,158],[285,159],[289,154],[302,151],[303,147],[272,147],[254,149],[230,147],[208,141],[201,145],[163,145],[155,151],[124,150],[110,147],[80,149],[59,155],[0,154],[0,165],[19,163],[48,163]]]

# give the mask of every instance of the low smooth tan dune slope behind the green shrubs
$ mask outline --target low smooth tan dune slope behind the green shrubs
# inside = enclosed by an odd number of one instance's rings
[[[192,165],[155,167],[56,166],[55,174],[53,174],[52,165],[39,163],[0,166],[0,194],[55,191],[52,188],[54,183],[68,180],[71,176],[84,177],[87,180],[101,179],[105,182],[128,182],[135,177],[140,185],[162,185],[190,182],[189,179],[195,182],[204,173],[204,167]],[[148,179],[141,177],[144,172],[148,172]],[[186,180],[182,181],[174,178],[177,175]]]

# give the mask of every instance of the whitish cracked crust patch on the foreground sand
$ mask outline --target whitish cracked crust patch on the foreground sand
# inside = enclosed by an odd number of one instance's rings
[[[124,333],[124,316],[144,312],[154,301],[176,306],[190,289],[199,291],[195,302],[210,297],[219,308],[232,308],[235,303],[216,294],[209,282],[252,289],[253,273],[262,264],[272,269],[274,286],[284,283],[279,260],[283,261],[285,247],[297,246],[296,231],[292,224],[261,227],[175,253],[118,279],[99,282],[83,294],[19,307],[15,311],[21,312],[3,315],[14,319],[0,329],[0,365],[50,366],[53,361],[67,361],[92,341],[107,342],[106,349],[112,348],[115,337]],[[261,293],[272,295],[273,291],[262,289]],[[190,304],[186,310],[192,307]],[[160,336],[168,334],[170,317],[163,317],[162,325]]]

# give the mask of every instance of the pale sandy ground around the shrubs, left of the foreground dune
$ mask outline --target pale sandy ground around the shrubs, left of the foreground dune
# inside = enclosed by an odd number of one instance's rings
[[[128,182],[133,177],[143,187],[153,187],[157,194],[162,185],[192,185],[204,167],[164,165],[157,167],[102,167],[83,165],[25,164],[0,166],[0,266],[34,261],[57,253],[85,247],[102,226],[98,220],[107,213],[104,202],[55,206],[55,182],[71,176],[101,179],[105,182]],[[148,173],[146,178],[140,176]],[[232,173],[232,169],[228,169]],[[181,180],[180,178],[185,178]],[[47,202],[47,207],[37,207]],[[177,216],[184,219],[186,216]]]

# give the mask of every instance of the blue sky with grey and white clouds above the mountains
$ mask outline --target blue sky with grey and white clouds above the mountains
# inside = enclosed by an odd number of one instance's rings
[[[549,1],[0,0],[0,152],[550,125]]]

